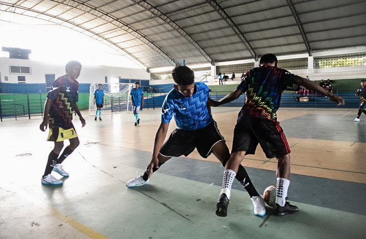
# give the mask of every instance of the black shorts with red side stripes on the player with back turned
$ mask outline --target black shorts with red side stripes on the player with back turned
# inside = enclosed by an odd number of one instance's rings
[[[291,153],[279,122],[265,118],[240,118],[234,129],[231,153],[245,151],[246,155],[254,155],[258,143],[269,159]]]

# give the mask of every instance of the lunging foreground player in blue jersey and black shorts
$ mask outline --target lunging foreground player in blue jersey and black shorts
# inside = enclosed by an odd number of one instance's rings
[[[172,76],[175,85],[163,103],[153,157],[143,175],[127,182],[126,186],[129,188],[147,184],[149,177],[162,164],[172,157],[181,155],[187,157],[195,148],[203,158],[207,158],[211,153],[214,154],[224,166],[230,158],[225,139],[220,134],[207,107],[209,99],[207,85],[195,83],[193,71],[186,66],[176,67]],[[177,129],[164,143],[173,116]],[[239,166],[236,179],[248,191],[254,204],[254,214],[265,215],[264,201],[254,188],[244,167]]]

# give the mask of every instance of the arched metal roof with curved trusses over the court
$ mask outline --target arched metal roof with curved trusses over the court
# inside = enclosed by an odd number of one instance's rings
[[[366,45],[365,0],[0,0],[109,45],[142,68]]]

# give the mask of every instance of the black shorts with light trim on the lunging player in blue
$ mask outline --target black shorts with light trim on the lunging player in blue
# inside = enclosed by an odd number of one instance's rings
[[[212,152],[212,147],[220,141],[225,141],[225,139],[214,121],[198,130],[175,129],[159,153],[165,157],[179,157],[181,155],[187,157],[197,148],[198,153],[203,158],[207,158]]]

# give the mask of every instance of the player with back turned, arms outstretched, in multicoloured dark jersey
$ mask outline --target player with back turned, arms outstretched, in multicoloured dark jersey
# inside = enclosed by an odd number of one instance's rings
[[[265,54],[260,59],[260,67],[247,72],[245,78],[234,92],[219,102],[210,101],[209,105],[219,106],[237,99],[247,93],[247,100],[242,106],[234,129],[231,156],[224,171],[223,185],[217,204],[216,214],[227,210],[230,190],[238,166],[247,154],[255,154],[258,143],[267,158],[277,158],[277,197],[275,211],[278,215],[292,214],[297,206],[286,201],[290,184],[290,147],[285,134],[277,122],[277,110],[284,90],[298,91],[299,85],[319,92],[329,100],[344,104],[344,100],[326,91],[314,82],[277,68],[277,57]]]

